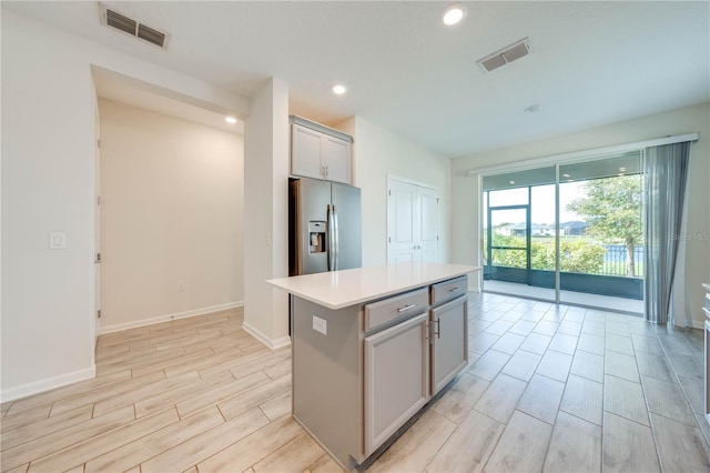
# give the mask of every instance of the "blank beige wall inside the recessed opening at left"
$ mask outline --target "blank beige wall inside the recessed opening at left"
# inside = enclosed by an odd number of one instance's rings
[[[243,139],[110,100],[101,117],[101,332],[243,300]]]

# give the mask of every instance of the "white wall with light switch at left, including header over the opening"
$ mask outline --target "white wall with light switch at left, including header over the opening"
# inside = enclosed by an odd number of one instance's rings
[[[2,8],[2,401],[93,376],[93,64],[203,104],[248,100]],[[206,107],[205,107],[206,108]],[[49,250],[49,232],[67,249]]]

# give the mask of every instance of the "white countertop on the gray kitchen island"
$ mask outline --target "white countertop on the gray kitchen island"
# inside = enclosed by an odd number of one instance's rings
[[[480,271],[480,268],[446,263],[397,263],[272,279],[266,282],[336,310],[474,271]]]

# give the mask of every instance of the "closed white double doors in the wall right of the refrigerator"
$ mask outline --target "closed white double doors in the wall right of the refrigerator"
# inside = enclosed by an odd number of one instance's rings
[[[438,261],[438,191],[389,179],[387,193],[387,262]]]

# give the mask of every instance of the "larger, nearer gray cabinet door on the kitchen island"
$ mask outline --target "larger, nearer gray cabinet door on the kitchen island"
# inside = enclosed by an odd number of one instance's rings
[[[365,456],[428,401],[427,314],[365,339]]]

